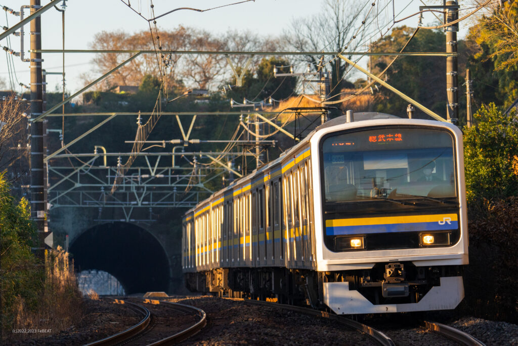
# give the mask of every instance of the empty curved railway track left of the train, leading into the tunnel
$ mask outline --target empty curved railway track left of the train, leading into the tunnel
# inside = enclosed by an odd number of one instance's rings
[[[132,301],[113,300],[115,303],[130,305],[133,310],[143,315],[142,320],[120,333],[97,340],[87,346],[130,342],[142,345],[175,344],[195,335],[207,324],[205,312],[196,307],[164,300],[129,299]]]

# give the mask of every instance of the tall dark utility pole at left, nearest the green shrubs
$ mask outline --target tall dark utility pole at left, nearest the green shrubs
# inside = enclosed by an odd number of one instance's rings
[[[31,0],[31,14],[41,8],[40,0]],[[41,72],[41,17],[31,21],[31,119],[43,113],[43,78]],[[46,201],[43,170],[43,122],[31,123],[31,218],[40,232],[40,240],[45,237]],[[39,245],[38,245],[39,246]]]

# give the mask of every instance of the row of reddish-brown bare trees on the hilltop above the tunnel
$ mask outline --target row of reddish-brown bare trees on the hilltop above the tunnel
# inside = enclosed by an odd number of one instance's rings
[[[156,38],[159,37],[159,38]],[[197,50],[197,51],[275,51],[279,47],[278,39],[261,37],[250,31],[228,31],[221,38],[215,37],[205,30],[192,27],[178,26],[172,31],[142,31],[130,35],[128,33],[100,32],[94,36],[92,49],[105,50],[154,50],[162,47],[164,51]],[[116,67],[132,54],[103,53],[97,54],[93,60],[95,74],[84,74],[85,81],[95,79],[99,74],[106,73]],[[233,64],[243,67],[249,56],[232,55]],[[262,59],[256,56],[252,60],[251,70],[254,71]],[[109,89],[117,85],[139,85],[145,75],[161,77],[159,65],[166,61],[166,84],[169,88],[194,87],[210,89],[221,85],[232,75],[232,69],[222,55],[196,54],[142,54],[131,63],[123,66],[98,86],[98,89]],[[162,71],[164,69],[162,68]]]

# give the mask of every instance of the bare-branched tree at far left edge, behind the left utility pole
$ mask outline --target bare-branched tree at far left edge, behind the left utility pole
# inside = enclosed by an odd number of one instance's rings
[[[0,99],[0,172],[7,171],[10,182],[28,172],[27,109],[14,93]]]

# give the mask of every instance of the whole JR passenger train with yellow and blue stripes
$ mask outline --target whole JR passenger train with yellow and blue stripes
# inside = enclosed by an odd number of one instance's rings
[[[462,132],[358,112],[186,212],[191,291],[337,314],[454,309],[468,232]]]

